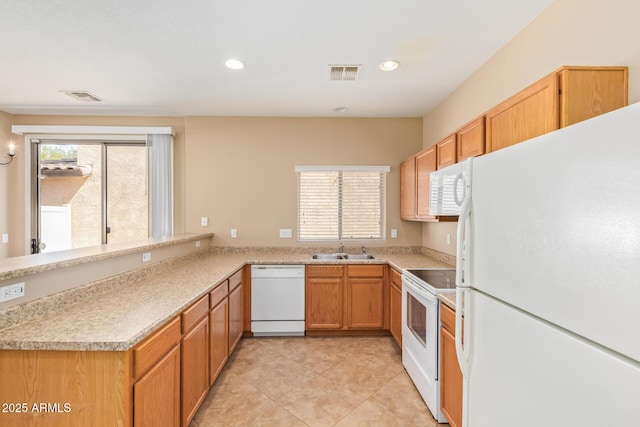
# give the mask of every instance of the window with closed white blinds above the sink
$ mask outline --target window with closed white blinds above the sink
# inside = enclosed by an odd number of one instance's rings
[[[296,166],[298,240],[384,240],[389,166]]]

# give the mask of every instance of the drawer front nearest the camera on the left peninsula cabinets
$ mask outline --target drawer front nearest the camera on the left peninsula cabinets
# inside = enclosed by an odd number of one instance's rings
[[[176,317],[133,349],[134,376],[139,378],[180,342],[180,318]]]

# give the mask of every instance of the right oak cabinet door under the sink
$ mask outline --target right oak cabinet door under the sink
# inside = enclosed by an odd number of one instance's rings
[[[384,279],[347,279],[350,329],[382,329],[384,326]]]

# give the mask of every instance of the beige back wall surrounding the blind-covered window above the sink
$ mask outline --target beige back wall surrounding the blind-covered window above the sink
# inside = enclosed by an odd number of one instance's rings
[[[420,245],[420,224],[399,217],[399,164],[421,147],[421,119],[187,117],[185,127],[188,232],[213,232],[214,245],[297,245],[294,166],[389,165],[387,236],[398,238],[386,245]]]

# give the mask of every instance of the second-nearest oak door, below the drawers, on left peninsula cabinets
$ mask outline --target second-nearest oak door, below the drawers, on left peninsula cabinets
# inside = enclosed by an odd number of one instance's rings
[[[182,425],[188,426],[209,391],[209,318],[182,338]]]

